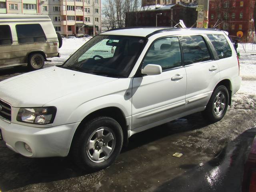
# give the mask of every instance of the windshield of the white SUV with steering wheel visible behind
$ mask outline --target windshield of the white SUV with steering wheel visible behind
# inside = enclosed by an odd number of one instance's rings
[[[127,78],[145,42],[142,37],[98,35],[84,44],[60,67]]]

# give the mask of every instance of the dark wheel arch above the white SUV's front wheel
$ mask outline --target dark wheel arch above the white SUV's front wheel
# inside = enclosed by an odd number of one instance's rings
[[[72,148],[74,138],[76,138],[76,136],[78,136],[79,133],[84,129],[83,124],[85,122],[87,122],[89,120],[92,120],[93,118],[96,118],[96,117],[99,117],[99,116],[108,116],[108,117],[113,118],[114,120],[116,120],[122,128],[124,146],[126,146],[128,144],[128,124],[126,122],[126,118],[124,116],[124,113],[118,107],[106,107],[106,108],[101,108],[101,109],[98,109],[94,112],[91,112],[80,122],[80,124],[76,128],[76,131],[75,131],[74,136],[72,138],[70,149]]]

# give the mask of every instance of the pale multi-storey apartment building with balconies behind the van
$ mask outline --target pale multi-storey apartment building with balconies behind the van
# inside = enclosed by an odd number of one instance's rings
[[[101,32],[100,0],[0,0],[0,13],[46,14],[62,35]]]

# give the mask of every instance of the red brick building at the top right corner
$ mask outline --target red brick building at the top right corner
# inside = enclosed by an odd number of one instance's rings
[[[252,42],[255,36],[254,3],[255,0],[210,0],[209,28],[219,24],[216,28],[228,31],[230,36],[242,32],[242,41]]]

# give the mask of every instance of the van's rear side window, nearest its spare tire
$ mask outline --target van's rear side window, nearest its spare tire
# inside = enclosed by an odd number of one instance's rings
[[[46,41],[46,36],[40,24],[16,25],[16,32],[20,44]]]

